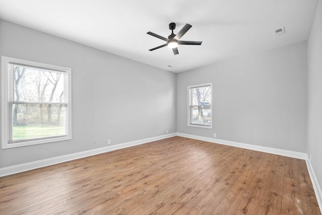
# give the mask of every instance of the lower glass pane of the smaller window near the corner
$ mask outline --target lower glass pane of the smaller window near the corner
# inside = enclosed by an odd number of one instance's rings
[[[192,106],[191,123],[197,125],[211,125],[211,106]]]

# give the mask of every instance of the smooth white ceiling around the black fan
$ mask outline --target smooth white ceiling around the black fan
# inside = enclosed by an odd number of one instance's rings
[[[264,51],[308,38],[317,0],[0,0],[0,19],[172,72]],[[181,40],[201,46],[151,48],[186,24]],[[286,34],[274,31],[285,27]],[[1,36],[1,32],[0,32]],[[169,67],[173,66],[173,68]]]

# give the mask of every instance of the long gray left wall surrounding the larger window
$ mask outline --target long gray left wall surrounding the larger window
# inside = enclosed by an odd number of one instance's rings
[[[2,149],[0,168],[176,132],[175,73],[2,20],[0,32],[0,55],[72,69],[73,136]]]

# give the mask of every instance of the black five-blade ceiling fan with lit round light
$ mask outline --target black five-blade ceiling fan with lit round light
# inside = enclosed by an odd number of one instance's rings
[[[158,47],[155,47],[153,49],[149,49],[149,51],[153,51],[155,49],[159,49],[165,46],[168,46],[169,48],[172,48],[173,53],[175,55],[179,54],[178,51],[178,45],[201,45],[202,41],[183,41],[180,40],[180,38],[187,33],[187,31],[192,27],[192,25],[186,24],[179,32],[178,34],[174,34],[173,30],[176,29],[176,23],[170,23],[169,24],[169,29],[172,31],[171,35],[169,35],[168,39],[162,36],[159,36],[157,34],[154,34],[152,32],[147,32],[147,34],[162,39],[164,41],[166,41],[167,43],[164,45],[160,45]]]

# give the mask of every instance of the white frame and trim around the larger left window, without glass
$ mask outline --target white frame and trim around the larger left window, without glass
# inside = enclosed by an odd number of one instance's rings
[[[9,143],[10,140],[10,129],[9,129],[9,63],[18,63],[18,64],[24,64],[34,67],[41,67],[41,68],[47,68],[47,69],[53,69],[53,70],[63,70],[67,73],[67,107],[66,107],[66,128],[67,135],[66,136],[57,136],[57,137],[46,137],[46,138],[39,138],[34,140],[28,140],[28,141],[21,141],[17,143]],[[21,147],[21,146],[30,146],[30,145],[36,145],[36,144],[43,144],[43,143],[52,143],[52,142],[58,142],[58,141],[65,141],[65,140],[71,140],[71,68],[67,67],[61,67],[61,66],[55,66],[45,63],[38,63],[28,60],[21,60],[17,58],[12,57],[6,57],[2,56],[2,148],[8,149],[8,148],[15,148],[15,147]]]

